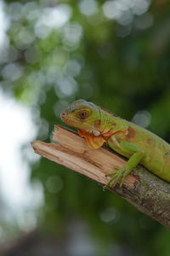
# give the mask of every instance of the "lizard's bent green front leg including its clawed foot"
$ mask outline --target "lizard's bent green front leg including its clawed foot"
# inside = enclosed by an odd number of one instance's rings
[[[122,152],[127,152],[128,154],[132,154],[132,156],[127,160],[127,163],[122,168],[116,168],[116,172],[106,173],[106,177],[112,176],[111,180],[104,186],[113,187],[118,180],[121,179],[120,186],[124,181],[124,178],[127,177],[127,174],[130,173],[134,167],[136,167],[140,160],[144,157],[144,150],[134,145],[133,143],[121,142],[119,149]]]

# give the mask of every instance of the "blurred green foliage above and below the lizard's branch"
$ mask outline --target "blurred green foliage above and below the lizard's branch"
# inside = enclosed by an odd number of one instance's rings
[[[144,113],[145,126],[170,143],[169,2],[113,3],[6,1],[1,86],[30,106],[39,139],[49,142],[61,109],[83,98],[129,120]],[[35,180],[44,230],[63,233],[81,219],[101,255],[111,244],[169,255],[169,231],[97,184],[45,159],[31,165]]]

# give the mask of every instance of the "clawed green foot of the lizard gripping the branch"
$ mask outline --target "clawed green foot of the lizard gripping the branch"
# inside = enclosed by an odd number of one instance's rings
[[[108,172],[105,174],[105,177],[112,176],[110,181],[105,184],[104,189],[108,187],[114,187],[116,182],[121,179],[120,187],[122,187],[122,183],[124,181],[124,178],[126,177],[126,169],[125,168],[119,168],[115,167],[116,172]]]

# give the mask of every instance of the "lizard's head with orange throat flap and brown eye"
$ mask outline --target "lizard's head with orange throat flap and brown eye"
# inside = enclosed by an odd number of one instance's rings
[[[67,125],[78,129],[79,135],[86,138],[90,148],[100,148],[105,143],[101,114],[101,108],[94,103],[77,100],[60,117]]]

